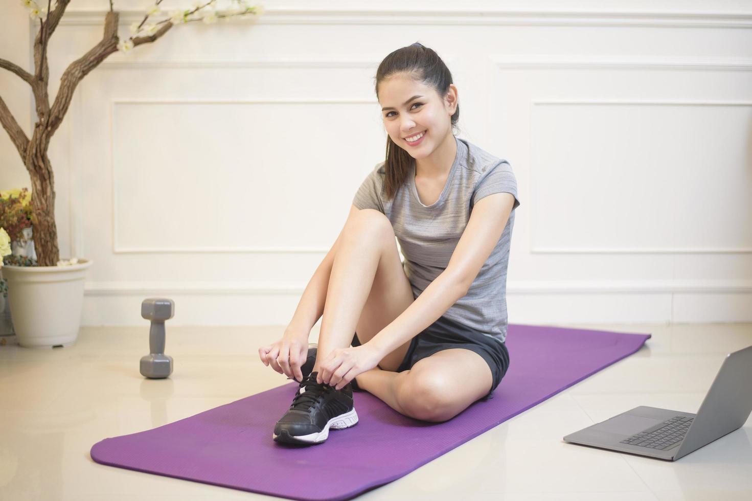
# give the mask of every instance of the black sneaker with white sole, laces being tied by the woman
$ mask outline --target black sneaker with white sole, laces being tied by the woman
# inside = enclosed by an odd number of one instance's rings
[[[300,383],[293,405],[274,425],[275,442],[314,445],[329,438],[329,428],[342,430],[357,424],[350,384],[335,390],[329,384],[317,383],[317,375],[311,372]]]

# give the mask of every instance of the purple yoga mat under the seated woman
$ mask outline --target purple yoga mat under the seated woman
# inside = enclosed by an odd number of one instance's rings
[[[493,398],[450,421],[403,416],[355,393],[359,422],[318,445],[281,445],[274,424],[298,384],[93,445],[97,463],[291,499],[350,499],[396,480],[635,353],[650,334],[508,326],[510,364]],[[336,458],[336,461],[332,461]]]

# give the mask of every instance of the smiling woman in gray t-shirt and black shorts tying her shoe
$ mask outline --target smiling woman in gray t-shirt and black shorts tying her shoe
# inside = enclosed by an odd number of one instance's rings
[[[320,443],[330,428],[356,424],[353,390],[407,416],[446,421],[490,398],[509,366],[514,173],[453,134],[457,88],[435,51],[415,43],[390,53],[376,96],[387,158],[357,191],[282,339],[259,348],[265,365],[301,381],[274,427],[277,442]]]

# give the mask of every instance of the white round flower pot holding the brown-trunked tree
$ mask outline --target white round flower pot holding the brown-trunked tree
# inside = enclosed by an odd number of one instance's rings
[[[71,266],[3,266],[20,346],[53,348],[76,342],[83,281],[91,265],[92,261],[79,260]]]

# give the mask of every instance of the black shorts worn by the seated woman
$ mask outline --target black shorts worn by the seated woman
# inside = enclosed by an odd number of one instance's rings
[[[357,339],[356,332],[353,338],[353,346],[358,345],[360,345],[360,342]],[[507,351],[506,344],[481,332],[468,329],[445,317],[438,317],[438,320],[412,339],[405,360],[402,360],[396,372],[411,369],[418,360],[449,348],[465,348],[475,351],[486,360],[493,375],[493,385],[482,400],[493,398],[493,391],[502,382],[502,378],[509,369],[509,351]]]

